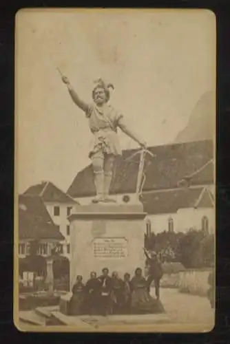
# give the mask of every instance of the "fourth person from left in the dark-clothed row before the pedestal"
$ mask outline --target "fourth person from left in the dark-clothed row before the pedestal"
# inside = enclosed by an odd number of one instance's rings
[[[118,273],[112,273],[112,312],[113,314],[121,314],[124,304],[123,281],[118,277]]]

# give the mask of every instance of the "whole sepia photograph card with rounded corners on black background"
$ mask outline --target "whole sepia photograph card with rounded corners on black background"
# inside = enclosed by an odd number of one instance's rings
[[[215,325],[216,17],[15,18],[14,325]]]

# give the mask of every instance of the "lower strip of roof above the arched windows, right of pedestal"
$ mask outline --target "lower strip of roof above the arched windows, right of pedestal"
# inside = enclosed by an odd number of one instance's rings
[[[145,193],[140,201],[149,215],[176,213],[180,208],[213,206],[208,191],[203,187]]]

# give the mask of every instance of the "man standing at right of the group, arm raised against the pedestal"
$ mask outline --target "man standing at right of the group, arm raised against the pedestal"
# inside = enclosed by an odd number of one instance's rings
[[[163,268],[158,260],[158,257],[156,255],[156,252],[151,252],[150,257],[147,254],[147,250],[145,250],[145,256],[147,257],[147,266],[148,266],[148,278],[147,278],[147,289],[148,292],[150,292],[150,287],[151,287],[151,282],[154,281],[154,286],[155,286],[155,294],[156,294],[156,299],[160,299],[160,279],[163,277]]]

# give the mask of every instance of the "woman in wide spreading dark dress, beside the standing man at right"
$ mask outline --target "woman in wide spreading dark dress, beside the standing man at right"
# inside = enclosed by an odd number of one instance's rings
[[[136,268],[132,278],[132,312],[136,314],[163,313],[165,312],[160,301],[153,299],[147,290],[147,281],[142,275],[142,270]]]

